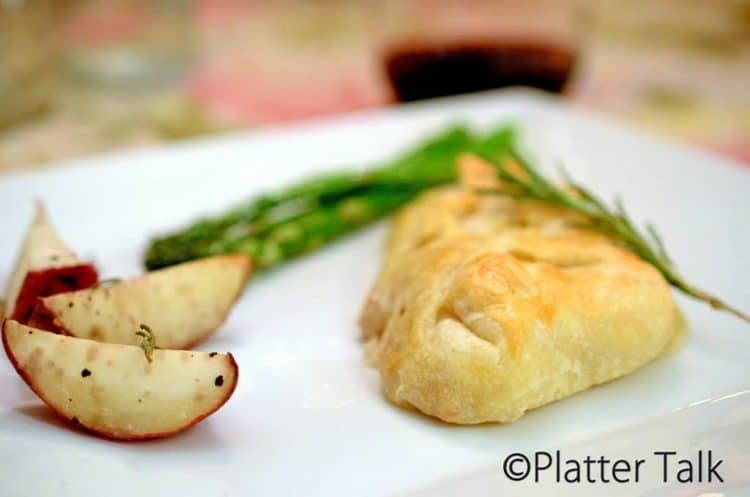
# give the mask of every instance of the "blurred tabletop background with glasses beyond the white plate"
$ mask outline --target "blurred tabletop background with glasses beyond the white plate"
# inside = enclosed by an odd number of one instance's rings
[[[0,174],[518,85],[750,165],[750,0],[0,0]]]

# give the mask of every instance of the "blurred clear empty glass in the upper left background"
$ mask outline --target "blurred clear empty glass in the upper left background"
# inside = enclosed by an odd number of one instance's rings
[[[61,26],[66,75],[107,88],[153,88],[184,77],[194,55],[190,0],[74,2]]]

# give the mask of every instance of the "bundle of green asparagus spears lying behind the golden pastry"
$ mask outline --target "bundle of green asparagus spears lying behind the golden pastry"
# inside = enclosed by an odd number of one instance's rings
[[[464,127],[450,128],[374,169],[317,176],[155,239],[146,267],[231,252],[250,255],[258,268],[273,266],[391,213],[426,188],[455,180],[455,159],[462,152],[503,156],[513,137],[510,127],[483,139]]]

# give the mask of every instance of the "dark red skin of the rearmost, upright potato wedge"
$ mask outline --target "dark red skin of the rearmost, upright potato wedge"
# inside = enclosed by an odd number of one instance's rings
[[[26,324],[34,313],[37,299],[58,293],[83,290],[96,284],[99,275],[91,264],[29,271],[8,318]]]

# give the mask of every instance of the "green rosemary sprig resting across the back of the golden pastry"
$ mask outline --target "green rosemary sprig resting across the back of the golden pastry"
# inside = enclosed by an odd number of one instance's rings
[[[499,162],[481,152],[478,155],[494,166],[497,177],[502,182],[500,188],[484,190],[484,193],[536,200],[582,214],[591,221],[593,229],[608,235],[618,245],[654,266],[678,290],[706,302],[714,309],[729,312],[750,322],[750,315],[688,283],[677,272],[656,228],[647,223],[645,233],[641,232],[631,220],[621,199],[615,199],[614,208],[609,208],[591,191],[564,172],[564,183],[554,183],[544,177],[516,150],[509,152],[513,162]]]

